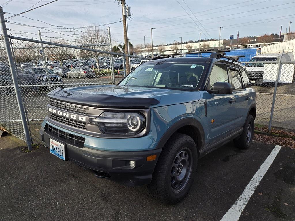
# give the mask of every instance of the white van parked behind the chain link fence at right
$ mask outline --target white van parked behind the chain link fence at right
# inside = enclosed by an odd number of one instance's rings
[[[281,55],[282,53],[265,53],[252,57],[250,62],[246,64],[246,69],[248,70],[251,83],[275,83],[278,63],[265,64],[264,62],[279,61]],[[261,63],[251,63],[251,61]],[[294,80],[294,54],[292,52],[283,54],[281,62],[289,63],[281,64],[278,75],[278,83],[292,83]]]

